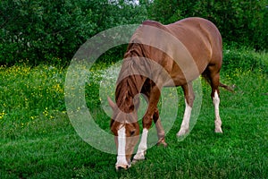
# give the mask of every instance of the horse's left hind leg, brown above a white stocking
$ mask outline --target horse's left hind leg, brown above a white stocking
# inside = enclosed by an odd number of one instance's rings
[[[185,111],[183,115],[183,120],[180,125],[180,131],[177,136],[185,135],[188,132],[189,120],[191,116],[192,107],[195,100],[195,94],[191,83],[181,86],[185,97]]]

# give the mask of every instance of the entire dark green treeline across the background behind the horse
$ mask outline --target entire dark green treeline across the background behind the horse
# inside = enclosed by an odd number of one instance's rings
[[[191,16],[213,21],[225,43],[255,50],[268,48],[268,7],[265,0],[132,2],[1,0],[0,64],[25,60],[30,64],[70,62],[80,45],[102,30],[147,19],[167,24]]]

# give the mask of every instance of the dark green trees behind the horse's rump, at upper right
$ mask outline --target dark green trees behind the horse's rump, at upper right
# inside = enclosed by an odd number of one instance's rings
[[[265,1],[242,0],[155,0],[149,6],[151,19],[172,23],[186,17],[213,21],[225,42],[237,42],[255,49],[268,48],[268,8]]]

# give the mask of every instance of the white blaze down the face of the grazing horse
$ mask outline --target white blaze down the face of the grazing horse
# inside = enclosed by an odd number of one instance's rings
[[[128,168],[129,164],[126,159],[126,128],[121,127],[118,130],[118,149],[117,149],[117,162],[115,164],[116,169],[119,167]]]

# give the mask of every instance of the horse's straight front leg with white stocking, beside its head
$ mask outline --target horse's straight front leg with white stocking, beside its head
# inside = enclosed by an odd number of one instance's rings
[[[159,98],[160,98],[160,90],[156,86],[154,86],[151,90],[150,98],[148,98],[147,113],[146,115],[144,115],[142,119],[143,131],[142,131],[140,143],[138,145],[137,154],[133,158],[134,162],[135,160],[145,159],[145,155],[147,151],[147,135],[152,125],[155,111],[157,110],[157,103],[158,103]],[[159,123],[157,125],[159,126]],[[160,127],[162,127],[162,124],[160,125],[161,125]]]

